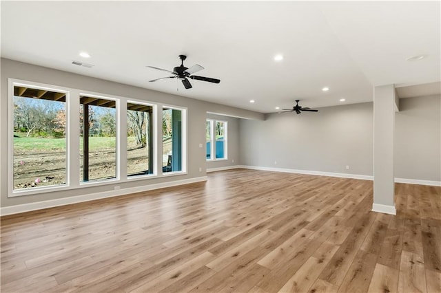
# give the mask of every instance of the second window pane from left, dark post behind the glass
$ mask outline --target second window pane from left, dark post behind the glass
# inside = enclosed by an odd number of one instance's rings
[[[80,101],[81,182],[116,178],[116,103],[86,96]]]

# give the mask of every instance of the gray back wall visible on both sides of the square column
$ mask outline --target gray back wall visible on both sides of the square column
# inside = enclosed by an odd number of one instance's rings
[[[395,177],[440,182],[441,96],[400,99],[395,127]],[[373,103],[240,120],[240,162],[371,176]]]

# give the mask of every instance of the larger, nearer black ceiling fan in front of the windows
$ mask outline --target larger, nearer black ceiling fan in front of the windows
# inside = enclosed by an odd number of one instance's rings
[[[220,80],[216,79],[216,78],[209,78],[209,77],[204,77],[204,76],[192,75],[195,72],[198,72],[198,71],[204,69],[204,67],[196,64],[196,65],[193,65],[192,67],[187,68],[184,66],[184,60],[187,58],[187,56],[179,55],[179,58],[181,59],[181,66],[174,67],[172,72],[167,69],[162,69],[162,68],[158,68],[158,67],[154,67],[154,66],[147,66],[147,67],[150,67],[153,69],[158,69],[158,70],[162,70],[163,72],[170,72],[171,74],[173,74],[172,76],[166,76],[166,77],[161,77],[161,78],[149,80],[150,83],[153,83],[156,80],[165,79],[165,78],[179,78],[180,80],[182,80],[182,83],[186,89],[192,88],[192,84],[189,82],[189,80],[187,78],[191,78],[194,80],[203,80],[203,81],[207,81],[209,83],[220,83]]]

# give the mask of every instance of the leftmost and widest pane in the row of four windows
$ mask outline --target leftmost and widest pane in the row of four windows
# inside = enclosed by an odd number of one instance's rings
[[[14,190],[66,183],[65,99],[14,86]]]

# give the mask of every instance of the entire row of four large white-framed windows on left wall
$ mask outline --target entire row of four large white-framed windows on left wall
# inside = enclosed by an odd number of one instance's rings
[[[180,175],[186,131],[185,108],[8,78],[8,197]]]

